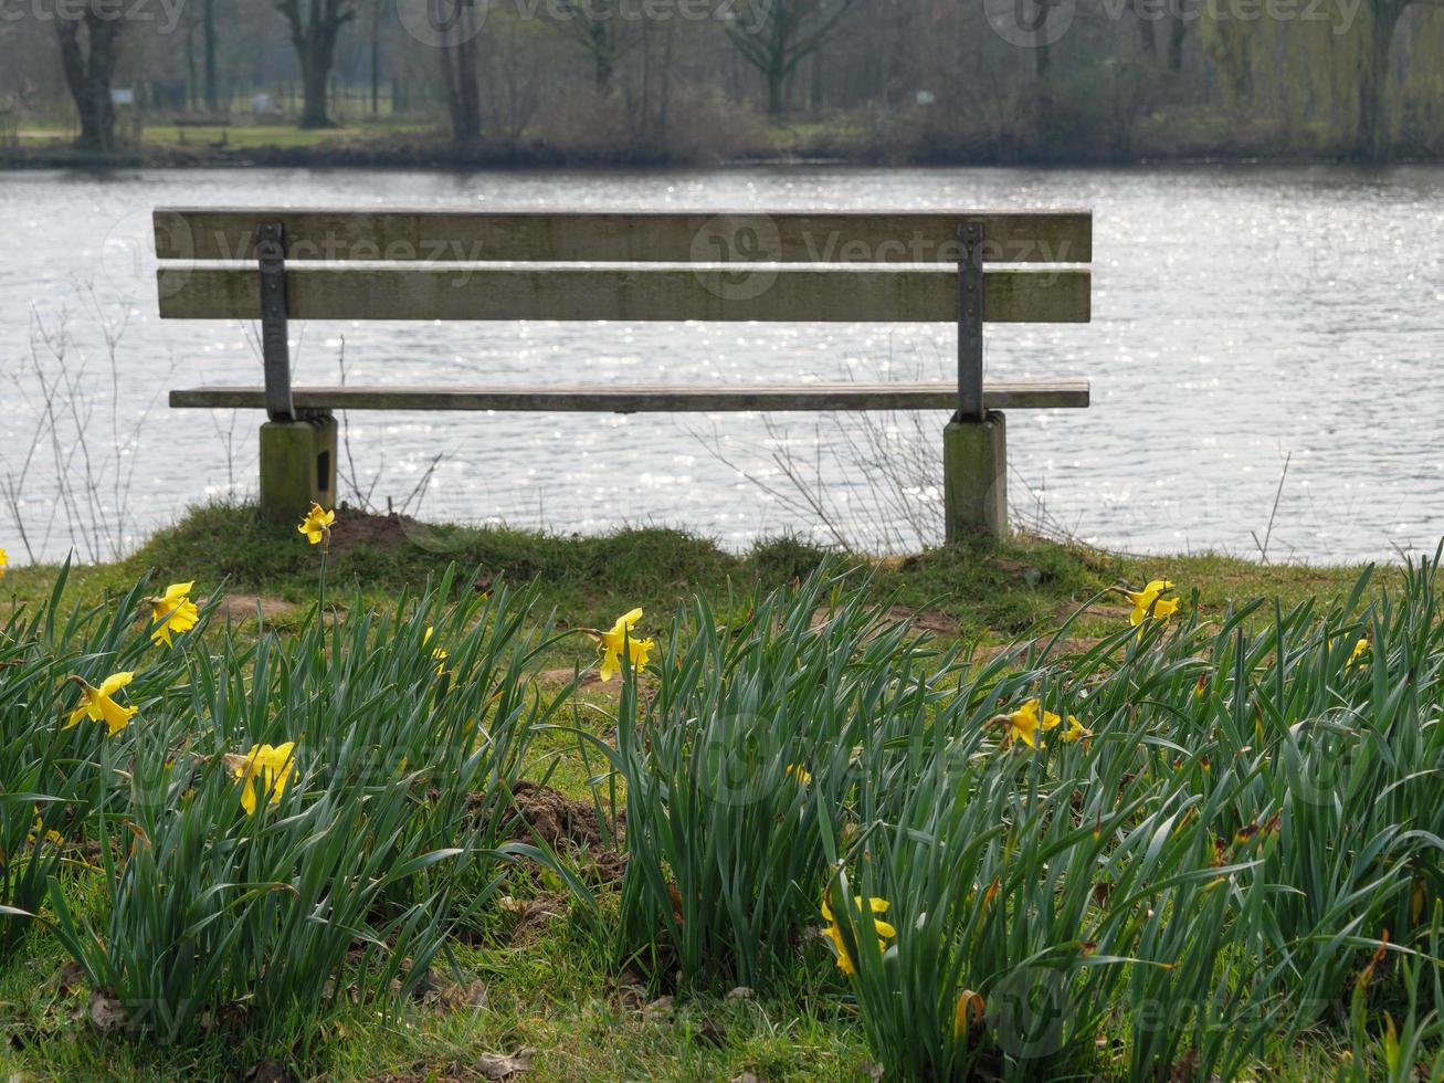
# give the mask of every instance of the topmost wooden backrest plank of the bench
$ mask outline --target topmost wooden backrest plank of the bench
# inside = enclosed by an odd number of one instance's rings
[[[409,263],[956,263],[983,222],[992,263],[1089,263],[1090,211],[557,212],[157,208],[162,260],[254,260],[280,222],[286,258]]]

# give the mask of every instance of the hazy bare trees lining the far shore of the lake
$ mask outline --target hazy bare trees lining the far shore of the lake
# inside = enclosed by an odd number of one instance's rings
[[[1437,159],[1444,0],[0,0],[0,143],[137,118],[377,160]]]

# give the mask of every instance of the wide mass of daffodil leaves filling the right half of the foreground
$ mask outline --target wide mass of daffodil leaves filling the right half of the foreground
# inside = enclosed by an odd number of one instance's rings
[[[827,921],[897,1077],[1235,1077],[1437,966],[1435,575],[978,666],[820,575],[696,604],[609,752],[624,953],[721,992]]]

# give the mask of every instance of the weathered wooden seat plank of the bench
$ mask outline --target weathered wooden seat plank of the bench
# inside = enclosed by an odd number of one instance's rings
[[[689,413],[736,410],[953,410],[953,384],[735,384],[712,387],[296,387],[299,410],[521,410],[565,413]],[[989,410],[1083,407],[1087,380],[992,383]],[[256,410],[261,387],[192,387],[170,406]]]

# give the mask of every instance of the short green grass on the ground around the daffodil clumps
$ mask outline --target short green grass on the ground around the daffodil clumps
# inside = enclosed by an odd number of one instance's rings
[[[16,546],[7,547],[13,557]],[[709,599],[719,619],[745,622],[758,588],[804,579],[827,557],[793,540],[734,554],[669,530],[549,537],[390,523],[341,511],[328,598],[349,609],[384,611],[403,589],[435,580],[455,563],[468,575],[479,569],[482,588],[503,579],[534,583],[540,599],[536,612],[554,612],[563,628],[608,627],[635,605],[648,611],[651,632],[666,628],[671,614],[696,593]],[[74,569],[66,601],[114,599],[146,572],[162,583],[193,579],[202,596],[224,582],[228,595],[273,605],[269,621],[283,634],[303,635],[318,559],[318,550],[292,527],[267,529],[245,507],[206,507],[124,562]],[[1113,585],[1173,579],[1186,598],[1196,592],[1200,624],[1209,627],[1232,605],[1259,596],[1278,598],[1285,609],[1318,599],[1324,609],[1349,593],[1359,570],[1264,567],[1217,556],[1144,559],[1037,539],[855,563],[868,563],[875,598],[901,606],[895,617],[913,615],[943,644],[965,651],[1051,634],[1077,606]],[[55,576],[53,567],[9,569],[0,582],[0,624],[14,606],[43,604]],[[1399,579],[1396,570],[1382,570],[1370,596]],[[1259,619],[1266,621],[1268,614]],[[1069,645],[1086,653],[1123,627],[1126,606],[1096,604],[1071,624]],[[241,643],[254,641],[254,625],[238,628],[238,635]],[[593,657],[582,637],[569,637],[550,650],[546,663],[569,670]],[[615,687],[614,682],[580,692],[578,723],[599,741],[611,739],[608,719],[585,705],[615,710]],[[589,771],[599,768],[579,761],[572,736],[543,734],[530,755],[530,777],[550,770],[552,786],[573,799],[588,797]],[[103,924],[100,874],[72,866],[66,875],[77,914]],[[448,1005],[446,996],[435,1002],[438,998],[423,995],[407,1001],[399,1017],[383,1018],[373,1005],[342,1005],[305,1032],[269,1040],[225,1021],[183,1045],[98,1037],[82,1019],[84,983],[62,988],[66,954],[61,944],[33,934],[0,966],[0,1076],[243,1079],[271,1058],[303,1079],[466,1079],[485,1054],[531,1047],[537,1056],[529,1077],[534,1079],[866,1077],[872,1057],[865,1027],[820,941],[806,943],[794,972],[760,996],[726,999],[705,991],[679,993],[670,1006],[647,1008],[660,991],[638,993],[631,986],[640,979],[618,973],[589,933],[585,911],[567,904],[560,879],[534,869],[505,891],[518,900],[542,900],[554,915],[523,917],[503,907],[495,920],[481,926],[479,941],[453,946],[464,979],[485,989],[479,1006]],[[598,898],[604,914],[614,915],[615,892],[602,890]],[[442,975],[438,980],[445,985],[453,979]],[[1118,1019],[1106,1031],[1112,1038],[1128,1034]],[[1265,1054],[1266,1073],[1285,1080],[1331,1079],[1343,1050],[1344,1041],[1330,1034],[1274,1041]]]

